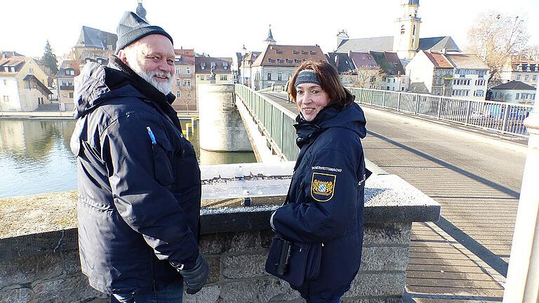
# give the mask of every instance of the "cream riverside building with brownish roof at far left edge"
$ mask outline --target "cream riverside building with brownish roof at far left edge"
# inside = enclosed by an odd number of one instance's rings
[[[51,103],[47,74],[34,59],[15,52],[0,55],[1,112],[32,112]]]

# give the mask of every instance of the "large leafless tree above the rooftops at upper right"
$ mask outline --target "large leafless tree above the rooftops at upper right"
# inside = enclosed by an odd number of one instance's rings
[[[526,16],[482,13],[468,31],[467,51],[477,53],[488,66],[488,87],[500,82],[500,72],[512,55],[527,48]]]

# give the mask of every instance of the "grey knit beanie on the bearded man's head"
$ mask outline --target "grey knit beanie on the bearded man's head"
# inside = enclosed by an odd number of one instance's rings
[[[116,32],[118,34],[118,41],[116,43],[115,54],[117,55],[121,49],[150,34],[160,34],[166,36],[168,40],[174,44],[171,35],[165,32],[164,29],[156,25],[149,25],[148,22],[133,12],[124,13],[124,16],[121,17],[118,24]]]

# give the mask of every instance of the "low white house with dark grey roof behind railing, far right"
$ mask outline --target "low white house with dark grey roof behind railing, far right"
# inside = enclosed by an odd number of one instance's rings
[[[510,81],[491,88],[490,100],[533,105],[537,89],[521,81]]]

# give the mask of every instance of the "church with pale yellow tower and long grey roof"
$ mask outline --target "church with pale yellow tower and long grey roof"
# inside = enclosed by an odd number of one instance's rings
[[[396,52],[401,59],[413,58],[418,50],[460,52],[451,36],[419,38],[420,25],[419,0],[401,0],[401,13],[394,21],[392,36],[350,39],[347,32],[341,30],[335,52]]]

